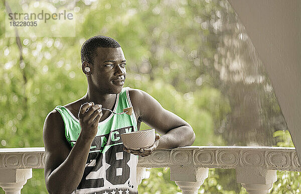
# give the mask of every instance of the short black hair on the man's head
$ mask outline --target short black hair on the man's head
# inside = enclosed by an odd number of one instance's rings
[[[97,35],[89,38],[84,42],[80,50],[80,60],[83,63],[87,61],[91,64],[94,63],[96,49],[102,48],[119,48],[120,44],[111,37]]]

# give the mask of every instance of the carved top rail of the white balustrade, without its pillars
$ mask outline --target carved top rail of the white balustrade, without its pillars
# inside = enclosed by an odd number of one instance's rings
[[[44,168],[45,148],[0,148],[0,169]],[[203,168],[263,167],[301,171],[295,148],[269,146],[186,146],[139,157],[139,167],[195,165]]]

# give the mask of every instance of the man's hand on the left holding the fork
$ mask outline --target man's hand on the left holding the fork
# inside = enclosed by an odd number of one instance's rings
[[[93,102],[83,104],[78,113],[81,136],[84,139],[92,140],[98,130],[98,123],[102,117],[101,105],[94,105]]]

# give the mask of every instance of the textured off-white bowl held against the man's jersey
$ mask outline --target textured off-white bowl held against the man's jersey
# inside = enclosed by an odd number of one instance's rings
[[[123,133],[120,135],[124,147],[131,150],[139,150],[140,148],[148,148],[155,143],[155,129],[146,129]]]

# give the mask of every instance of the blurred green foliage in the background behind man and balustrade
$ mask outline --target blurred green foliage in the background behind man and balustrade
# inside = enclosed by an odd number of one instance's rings
[[[4,2],[0,5],[4,11]],[[261,144],[274,134],[268,145],[293,146],[288,131],[283,131],[286,126],[266,78],[260,87],[246,85],[245,80],[232,81],[234,86],[229,87],[230,81],[222,76],[239,77],[242,69],[234,71],[225,65],[235,57],[240,57],[246,68],[257,68],[250,65],[250,56],[244,57],[248,42],[237,38],[244,37],[243,28],[232,23],[237,18],[226,1],[77,1],[74,10],[76,37],[20,34],[23,60],[17,39],[5,36],[7,13],[0,13],[0,148],[44,146],[46,115],[86,92],[80,47],[97,34],[113,37],[121,44],[127,59],[126,86],[148,92],[190,123],[196,133],[194,145],[248,144],[255,140]],[[249,76],[259,76],[257,69],[251,72],[257,74]],[[251,101],[257,100],[261,107],[248,104],[243,92],[249,92]],[[242,109],[241,105],[248,106]],[[244,112],[249,114],[245,114],[246,120],[260,113],[258,117],[265,120],[258,130],[265,135],[248,131],[254,123],[240,121],[246,128],[236,127],[233,114]],[[181,192],[170,181],[169,169],[149,171],[150,177],[139,185],[139,193]],[[299,192],[299,172],[278,171],[277,176],[270,193]],[[1,188],[0,193],[4,193]],[[33,169],[22,193],[47,193],[43,169]],[[246,191],[236,182],[234,169],[210,169],[199,193]]]

